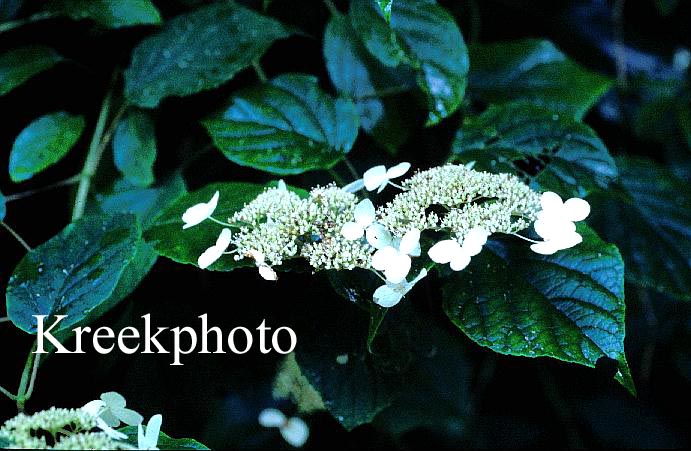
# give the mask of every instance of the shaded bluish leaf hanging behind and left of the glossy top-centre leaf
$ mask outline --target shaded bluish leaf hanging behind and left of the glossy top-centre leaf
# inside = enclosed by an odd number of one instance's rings
[[[411,128],[402,114],[409,108],[402,108],[398,97],[380,95],[411,89],[412,71],[383,66],[367,53],[343,16],[333,16],[326,27],[324,59],[336,89],[355,102],[362,128],[388,150],[396,150]]]

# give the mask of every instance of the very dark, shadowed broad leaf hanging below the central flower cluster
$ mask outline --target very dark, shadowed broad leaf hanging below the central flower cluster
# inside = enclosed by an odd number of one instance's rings
[[[367,312],[341,299],[323,301],[306,309],[295,357],[329,413],[351,430],[391,404],[420,349],[429,349],[409,304],[392,309],[370,353]]]

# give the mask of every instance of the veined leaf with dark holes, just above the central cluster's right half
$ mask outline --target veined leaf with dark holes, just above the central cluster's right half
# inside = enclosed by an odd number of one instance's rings
[[[590,127],[523,102],[467,117],[452,150],[456,160],[475,161],[478,169],[519,173],[536,188],[564,195],[605,189],[617,176],[614,159]]]

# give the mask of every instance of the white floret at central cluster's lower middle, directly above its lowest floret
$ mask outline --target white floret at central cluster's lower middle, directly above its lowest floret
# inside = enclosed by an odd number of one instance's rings
[[[420,231],[411,229],[399,242],[381,247],[372,256],[372,267],[382,271],[386,281],[401,283],[408,276],[412,261],[410,256],[420,255]]]

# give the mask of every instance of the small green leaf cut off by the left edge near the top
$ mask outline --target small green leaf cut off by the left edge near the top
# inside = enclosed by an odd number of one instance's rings
[[[60,61],[55,50],[43,46],[20,47],[0,55],[0,96]]]

